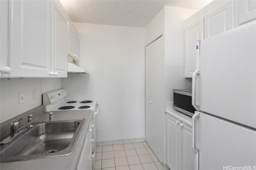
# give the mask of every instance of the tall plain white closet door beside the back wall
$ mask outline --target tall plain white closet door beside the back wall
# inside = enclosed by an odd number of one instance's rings
[[[156,154],[163,160],[162,137],[164,129],[164,113],[162,113],[162,69],[163,51],[162,37],[146,47],[146,141]]]

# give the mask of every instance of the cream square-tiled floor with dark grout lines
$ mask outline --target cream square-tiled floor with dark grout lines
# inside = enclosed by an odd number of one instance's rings
[[[146,141],[98,145],[94,170],[162,170]]]

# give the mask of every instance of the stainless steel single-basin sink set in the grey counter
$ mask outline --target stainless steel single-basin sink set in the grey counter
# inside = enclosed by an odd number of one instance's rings
[[[85,120],[37,122],[8,145],[2,145],[0,162],[66,156],[73,152]]]

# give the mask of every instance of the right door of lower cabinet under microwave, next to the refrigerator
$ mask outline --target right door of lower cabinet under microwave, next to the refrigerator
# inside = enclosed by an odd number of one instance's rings
[[[192,148],[192,127],[182,122],[182,170],[194,170],[194,157],[195,151]]]

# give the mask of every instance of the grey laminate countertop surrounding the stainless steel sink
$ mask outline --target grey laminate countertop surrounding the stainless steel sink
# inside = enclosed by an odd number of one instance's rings
[[[54,158],[42,158],[34,160],[22,160],[14,162],[0,163],[0,168],[3,170],[75,170],[78,166],[86,134],[89,129],[90,120],[92,119],[93,111],[53,111],[54,121],[58,120],[73,120],[86,119],[82,125],[82,133],[78,136],[74,152],[68,156],[59,156]],[[48,121],[49,117],[45,116],[37,121]]]

